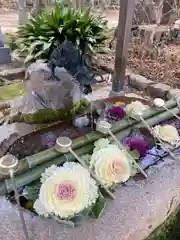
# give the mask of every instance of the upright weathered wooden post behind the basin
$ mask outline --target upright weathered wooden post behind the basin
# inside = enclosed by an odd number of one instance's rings
[[[123,93],[134,6],[135,0],[120,0],[115,68],[110,96],[117,96]]]

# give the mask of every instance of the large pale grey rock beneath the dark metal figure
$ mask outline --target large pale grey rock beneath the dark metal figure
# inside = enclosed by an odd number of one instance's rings
[[[79,86],[64,68],[56,69],[55,75],[58,79],[52,76],[46,63],[30,65],[25,75],[27,95],[11,103],[12,112],[35,113],[44,108],[71,109],[74,102],[81,99]]]

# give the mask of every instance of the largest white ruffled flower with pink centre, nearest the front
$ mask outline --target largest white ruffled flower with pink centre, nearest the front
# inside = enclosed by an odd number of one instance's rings
[[[78,163],[65,163],[47,178],[39,192],[39,201],[47,213],[62,219],[73,217],[95,204],[98,186],[89,172]]]

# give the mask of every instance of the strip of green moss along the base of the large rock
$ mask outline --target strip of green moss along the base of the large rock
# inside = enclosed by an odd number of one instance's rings
[[[83,113],[88,105],[89,102],[82,99],[74,104],[72,109],[41,109],[33,114],[21,114],[19,121],[29,124],[43,124],[58,120],[71,121],[75,115]]]

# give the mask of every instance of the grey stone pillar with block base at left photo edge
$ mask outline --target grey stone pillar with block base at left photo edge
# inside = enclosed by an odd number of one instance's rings
[[[11,62],[11,52],[8,47],[4,46],[3,34],[0,27],[0,64],[8,64]]]

